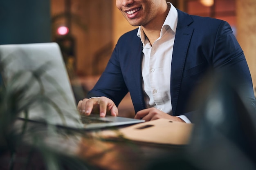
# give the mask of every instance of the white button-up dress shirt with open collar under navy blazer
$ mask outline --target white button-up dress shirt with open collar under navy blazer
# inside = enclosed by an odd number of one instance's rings
[[[155,107],[172,115],[171,105],[171,60],[173,44],[177,28],[178,13],[171,5],[164,21],[160,37],[152,44],[143,32],[141,26],[137,36],[143,44],[142,78],[146,107]],[[191,123],[185,115],[178,116],[186,123]]]

